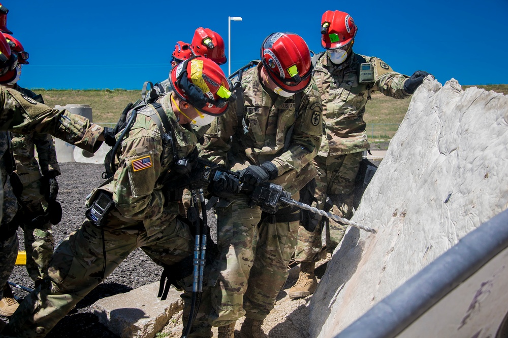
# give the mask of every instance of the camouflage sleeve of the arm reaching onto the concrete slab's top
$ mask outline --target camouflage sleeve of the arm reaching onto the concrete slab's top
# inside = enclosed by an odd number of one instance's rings
[[[394,71],[387,63],[376,57],[373,57],[370,63],[374,68],[373,90],[395,99],[403,99],[409,96],[404,91],[404,81],[409,78],[407,75]]]

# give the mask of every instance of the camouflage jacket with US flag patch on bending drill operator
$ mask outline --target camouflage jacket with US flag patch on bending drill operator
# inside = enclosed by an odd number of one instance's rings
[[[189,124],[182,126],[177,123],[170,98],[171,93],[156,102],[162,105],[173,126],[177,157],[182,158],[194,150],[198,141]],[[90,205],[99,190],[112,193],[115,207],[121,215],[133,222],[143,221],[148,236],[167,225],[158,221],[163,213],[172,214],[173,218],[178,214],[178,202],[166,201],[163,193],[164,178],[175,174],[172,172],[172,144],[163,137],[165,132],[151,118],[153,115],[158,118],[151,104],[138,110],[128,136],[119,147],[119,157],[115,161],[117,170],[112,181],[93,191],[87,202]]]

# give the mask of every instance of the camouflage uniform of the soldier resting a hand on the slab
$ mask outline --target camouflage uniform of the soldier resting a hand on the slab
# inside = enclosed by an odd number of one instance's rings
[[[370,62],[374,69],[374,82],[360,84],[358,69],[360,63]],[[342,217],[352,216],[352,192],[355,178],[362,160],[362,152],[369,149],[366,123],[363,121],[365,104],[370,94],[379,91],[386,96],[403,99],[409,96],[404,90],[404,81],[408,78],[397,73],[376,57],[353,54],[344,63],[336,65],[323,53],[316,63],[313,78],[321,93],[323,120],[326,134],[321,148],[314,158],[317,168],[316,194],[320,209],[325,207],[329,198],[331,212]],[[327,222],[326,247],[333,251],[342,239],[344,224],[330,220]],[[306,231],[302,226],[298,230],[298,244],[295,260],[312,261],[321,250],[320,224],[314,232]]]

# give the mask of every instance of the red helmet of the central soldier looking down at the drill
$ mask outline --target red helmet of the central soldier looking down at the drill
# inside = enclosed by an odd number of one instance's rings
[[[287,92],[301,92],[310,83],[310,51],[295,33],[270,34],[261,45],[261,60],[270,78]]]

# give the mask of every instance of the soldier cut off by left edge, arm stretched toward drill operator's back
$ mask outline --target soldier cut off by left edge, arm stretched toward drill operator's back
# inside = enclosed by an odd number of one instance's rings
[[[3,76],[16,69],[18,55],[11,52],[2,33],[0,33],[0,52],[5,56],[5,58],[0,58],[0,76]],[[23,134],[34,131],[42,134],[51,133],[89,152],[95,152],[102,144],[101,138],[104,138],[102,127],[92,125],[87,119],[73,115],[69,111],[60,112],[44,104],[39,104],[14,89],[0,86],[0,104],[2,105],[0,110],[0,130],[2,131],[11,130]],[[8,152],[10,139],[5,132],[1,133],[0,138],[2,139],[0,142],[0,155],[2,156],[0,167],[4,182],[3,219],[0,223],[0,261],[2,261],[0,285],[3,286],[7,283],[17,256],[16,229],[19,222],[14,219],[17,212],[17,201],[11,184],[11,177],[15,179],[17,176],[11,173],[13,163],[11,162],[9,165],[6,163],[7,160],[10,160],[10,152]],[[0,298],[4,297],[3,289],[0,289],[0,296]],[[8,309],[13,305],[0,304],[3,309]]]

